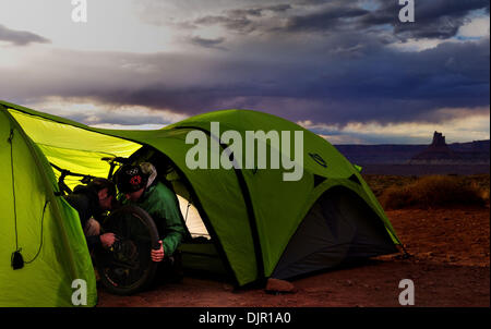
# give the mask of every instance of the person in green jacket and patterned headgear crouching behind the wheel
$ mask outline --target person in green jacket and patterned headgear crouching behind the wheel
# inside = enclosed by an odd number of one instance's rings
[[[157,170],[149,162],[124,164],[115,175],[123,204],[135,205],[152,217],[160,237],[160,248],[152,251],[153,261],[160,263],[160,270],[170,269],[176,275],[176,251],[185,236],[176,194],[156,180]]]

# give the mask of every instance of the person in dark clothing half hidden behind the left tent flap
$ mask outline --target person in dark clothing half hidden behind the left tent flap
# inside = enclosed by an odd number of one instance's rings
[[[113,233],[100,234],[100,223],[95,218],[112,208],[116,186],[109,180],[95,178],[87,185],[77,185],[65,200],[79,211],[88,249],[97,246],[109,248],[116,241]]]

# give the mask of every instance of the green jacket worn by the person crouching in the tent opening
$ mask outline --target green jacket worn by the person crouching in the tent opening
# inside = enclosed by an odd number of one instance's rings
[[[163,183],[157,182],[147,187],[137,202],[123,203],[135,205],[148,212],[163,240],[164,254],[171,256],[185,235],[176,194]]]

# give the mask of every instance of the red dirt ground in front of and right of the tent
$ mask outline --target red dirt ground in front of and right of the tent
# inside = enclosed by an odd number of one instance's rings
[[[98,306],[395,307],[402,279],[415,283],[415,306],[490,306],[489,206],[386,214],[412,257],[384,256],[295,280],[297,292],[289,294],[184,277],[132,296],[99,289]]]

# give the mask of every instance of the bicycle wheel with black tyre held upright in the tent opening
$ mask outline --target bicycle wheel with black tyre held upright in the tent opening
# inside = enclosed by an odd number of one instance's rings
[[[106,218],[103,230],[115,233],[117,241],[110,249],[96,252],[101,283],[119,295],[130,295],[146,288],[157,268],[151,251],[159,246],[152,217],[140,207],[123,206]]]

